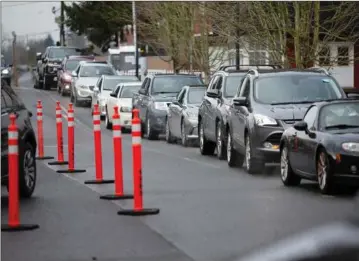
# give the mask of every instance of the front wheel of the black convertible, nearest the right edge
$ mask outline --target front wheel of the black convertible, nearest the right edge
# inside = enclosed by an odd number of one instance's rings
[[[319,150],[316,161],[319,189],[322,194],[331,194],[334,192],[331,180],[332,168],[328,154],[324,149]]]

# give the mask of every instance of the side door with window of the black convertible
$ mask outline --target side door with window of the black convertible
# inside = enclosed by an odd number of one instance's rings
[[[316,132],[316,119],[317,119],[318,107],[312,106],[305,114],[303,121],[308,125],[310,132]],[[316,149],[316,139],[310,135],[307,131],[295,131],[293,134],[294,148],[297,148],[292,157],[289,158],[293,168],[298,169],[304,173],[315,173],[315,157],[314,152]]]

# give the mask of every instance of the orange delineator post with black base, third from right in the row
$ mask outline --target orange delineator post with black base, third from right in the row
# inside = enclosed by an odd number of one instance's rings
[[[94,105],[93,111],[93,135],[94,135],[94,153],[95,153],[95,166],[96,166],[96,179],[87,180],[85,184],[110,184],[114,183],[113,179],[103,179],[102,167],[102,142],[101,142],[101,120],[98,104]]]

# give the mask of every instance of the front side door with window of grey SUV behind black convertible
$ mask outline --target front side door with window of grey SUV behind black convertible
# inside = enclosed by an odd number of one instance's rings
[[[250,77],[247,77],[243,81],[243,85],[240,91],[240,97],[246,97],[248,101],[248,106],[250,106],[249,103],[249,95],[251,90],[251,79]],[[248,107],[246,106],[240,106],[236,110],[234,110],[234,117],[233,117],[233,139],[236,143],[236,145],[243,149],[245,147],[245,127],[247,122],[247,117],[249,115]]]

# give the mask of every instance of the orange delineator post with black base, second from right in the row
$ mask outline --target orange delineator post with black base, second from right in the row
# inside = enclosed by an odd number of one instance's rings
[[[112,134],[114,150],[114,169],[115,169],[115,194],[100,196],[100,199],[131,199],[133,195],[124,194],[123,192],[123,166],[122,166],[122,133],[120,124],[120,115],[118,107],[114,107],[112,117]]]

